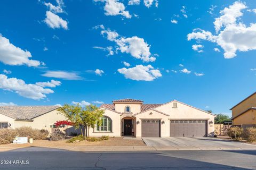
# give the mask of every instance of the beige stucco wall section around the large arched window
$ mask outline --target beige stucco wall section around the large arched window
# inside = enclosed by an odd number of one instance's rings
[[[89,136],[101,137],[102,135],[108,135],[109,137],[120,137],[121,136],[121,121],[120,114],[104,109],[104,116],[108,116],[112,120],[112,132],[97,132],[97,128],[90,128]]]

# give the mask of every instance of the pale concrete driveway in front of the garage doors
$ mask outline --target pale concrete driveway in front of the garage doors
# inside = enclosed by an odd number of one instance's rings
[[[142,138],[147,146],[168,150],[244,150],[256,145],[217,138]]]

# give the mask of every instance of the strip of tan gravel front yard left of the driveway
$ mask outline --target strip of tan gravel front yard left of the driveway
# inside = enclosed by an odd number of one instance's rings
[[[146,146],[142,140],[123,140],[122,137],[109,138],[109,140],[98,141],[98,142],[88,142],[81,141],[77,143],[67,143],[68,140],[61,141],[49,141],[49,140],[34,140],[32,144],[14,144],[11,143],[9,145],[1,145],[4,147],[8,146],[20,146],[20,147],[63,147],[63,146]],[[1,147],[0,146],[0,147]]]

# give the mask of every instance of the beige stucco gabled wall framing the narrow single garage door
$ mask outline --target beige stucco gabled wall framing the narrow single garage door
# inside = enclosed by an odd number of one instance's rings
[[[168,120],[169,116],[161,114],[159,112],[149,110],[147,112],[143,112],[141,114],[135,115],[136,121],[139,121],[138,124],[136,124],[136,137],[141,138],[141,120],[145,119],[159,119],[164,121],[165,123],[161,123],[161,137],[170,137],[170,121]]]

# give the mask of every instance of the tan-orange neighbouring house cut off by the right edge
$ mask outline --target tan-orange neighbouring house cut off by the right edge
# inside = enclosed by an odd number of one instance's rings
[[[239,126],[256,126],[256,92],[239,102],[232,111],[233,125]]]

